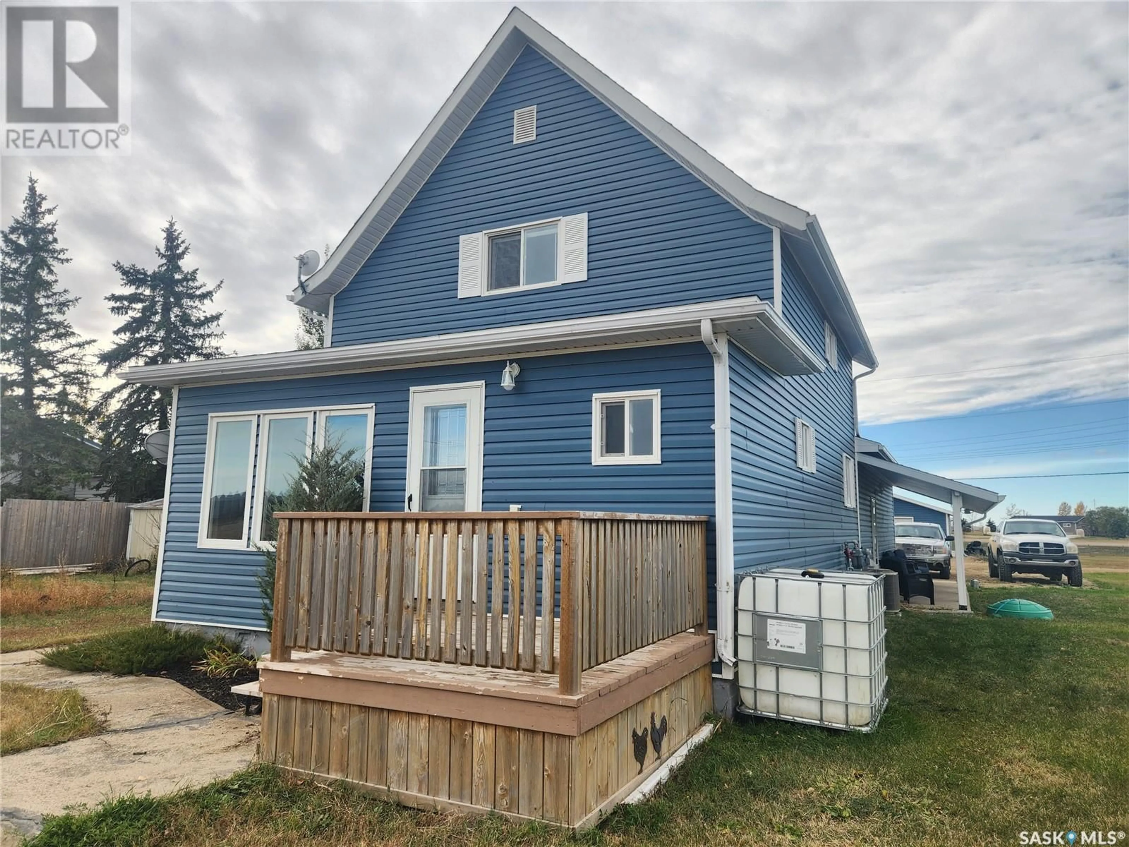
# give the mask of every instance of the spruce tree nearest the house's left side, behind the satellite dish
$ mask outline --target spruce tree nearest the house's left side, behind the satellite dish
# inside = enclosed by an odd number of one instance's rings
[[[191,250],[172,218],[161,229],[157,267],[114,263],[122,291],[106,296],[110,312],[123,317],[117,343],[98,356],[111,376],[130,365],[168,365],[224,355],[219,341],[222,312],[208,312],[220,280],[208,287],[198,269],[187,270]],[[140,501],[164,492],[164,468],[145,451],[146,436],[169,427],[172,390],[121,384],[96,407],[102,430],[102,477],[119,500]]]

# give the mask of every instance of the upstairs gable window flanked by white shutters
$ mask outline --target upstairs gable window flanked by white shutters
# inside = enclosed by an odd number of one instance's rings
[[[458,296],[480,297],[588,278],[588,213],[458,237]]]

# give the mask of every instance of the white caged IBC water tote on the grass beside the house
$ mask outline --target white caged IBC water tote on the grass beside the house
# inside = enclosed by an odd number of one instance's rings
[[[815,571],[816,574],[819,571]],[[886,707],[882,579],[777,568],[737,590],[738,709],[869,732]]]

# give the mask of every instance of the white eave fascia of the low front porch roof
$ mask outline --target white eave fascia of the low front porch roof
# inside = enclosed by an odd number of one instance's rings
[[[776,373],[789,376],[822,369],[815,352],[770,304],[759,297],[741,297],[368,344],[131,367],[119,377],[143,385],[202,385],[382,370],[493,355],[562,353],[584,347],[681,343],[699,340],[703,317]]]

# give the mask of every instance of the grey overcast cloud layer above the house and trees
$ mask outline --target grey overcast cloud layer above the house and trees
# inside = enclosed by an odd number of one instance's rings
[[[1124,396],[1129,6],[523,8],[819,215],[882,361],[865,420]],[[132,156],[6,158],[3,219],[34,173],[105,340],[111,263],[173,216],[228,349],[291,347],[292,256],[336,244],[507,10],[135,2]]]

